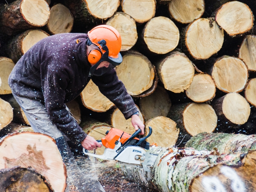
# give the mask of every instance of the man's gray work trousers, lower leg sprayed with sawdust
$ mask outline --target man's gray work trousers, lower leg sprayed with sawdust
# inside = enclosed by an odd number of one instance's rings
[[[66,141],[68,141],[68,138],[51,121],[45,106],[39,101],[19,97],[15,94],[13,94],[13,96],[24,111],[34,132],[46,134],[55,139],[59,152],[62,155],[63,162],[67,168],[68,185],[65,192],[69,192],[69,187],[74,184],[78,187],[80,192],[105,192],[102,185],[99,183],[97,175],[95,174],[96,171],[92,169],[93,165],[89,160],[84,160],[84,162],[90,164],[87,165],[90,169],[86,171],[82,168],[83,170],[81,170],[81,166],[78,165],[77,160],[74,159],[72,152],[67,145]],[[66,110],[69,111],[67,107]],[[71,113],[70,116],[72,117]],[[76,178],[73,178],[74,175]]]

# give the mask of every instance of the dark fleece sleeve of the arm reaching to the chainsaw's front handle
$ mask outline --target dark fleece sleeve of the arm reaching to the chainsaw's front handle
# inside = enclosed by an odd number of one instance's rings
[[[118,80],[115,69],[99,77],[93,76],[91,80],[98,86],[99,91],[117,106],[125,119],[129,119],[138,111],[133,99],[127,93],[125,85]]]

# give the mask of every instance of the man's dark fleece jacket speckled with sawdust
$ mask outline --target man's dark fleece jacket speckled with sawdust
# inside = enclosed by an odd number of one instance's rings
[[[87,38],[84,33],[63,33],[42,39],[19,59],[9,77],[13,93],[44,103],[50,119],[75,144],[86,134],[69,116],[65,103],[75,99],[90,79],[126,119],[137,111],[115,69],[100,77],[88,77]]]

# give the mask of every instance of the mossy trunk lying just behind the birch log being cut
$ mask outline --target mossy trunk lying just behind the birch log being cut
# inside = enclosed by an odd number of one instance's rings
[[[200,133],[192,137],[185,147],[193,147],[199,151],[217,148],[220,154],[247,153],[249,150],[256,150],[256,135]]]

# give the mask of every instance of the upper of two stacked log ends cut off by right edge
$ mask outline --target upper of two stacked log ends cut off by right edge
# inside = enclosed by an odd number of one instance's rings
[[[256,35],[247,35],[239,49],[239,58],[245,62],[249,71],[256,71]]]

